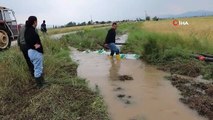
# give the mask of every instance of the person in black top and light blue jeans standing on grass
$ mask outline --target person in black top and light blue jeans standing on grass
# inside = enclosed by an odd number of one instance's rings
[[[34,77],[37,86],[41,88],[44,84],[43,78],[43,47],[41,44],[40,37],[36,32],[37,18],[30,16],[26,24],[25,40],[29,47],[28,56],[34,66]]]

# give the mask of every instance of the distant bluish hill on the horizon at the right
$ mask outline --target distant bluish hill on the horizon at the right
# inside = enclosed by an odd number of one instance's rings
[[[162,15],[160,18],[182,18],[182,17],[200,17],[200,16],[213,16],[213,11],[198,10],[185,12],[178,15]]]

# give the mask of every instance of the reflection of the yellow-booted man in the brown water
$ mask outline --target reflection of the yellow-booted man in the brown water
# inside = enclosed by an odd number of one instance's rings
[[[121,64],[120,61],[116,61],[114,59],[111,60],[111,67],[109,69],[110,80],[112,80],[112,81],[119,80],[118,79],[118,76],[119,76],[118,72],[120,70],[120,64]]]

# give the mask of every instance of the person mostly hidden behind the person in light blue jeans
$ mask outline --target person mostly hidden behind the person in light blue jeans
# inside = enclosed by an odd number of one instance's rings
[[[25,29],[26,29],[26,24],[27,24],[27,21],[25,22],[25,25],[23,25],[20,29],[20,33],[19,33],[19,36],[18,36],[18,46],[20,47],[20,50],[22,51],[23,55],[24,55],[24,58],[27,62],[27,65],[28,65],[28,68],[30,70],[30,73],[31,75],[33,76],[34,74],[34,67],[33,67],[33,64],[31,63],[30,61],[30,58],[28,56],[28,46],[26,45],[26,41],[24,39],[24,33],[25,33]]]

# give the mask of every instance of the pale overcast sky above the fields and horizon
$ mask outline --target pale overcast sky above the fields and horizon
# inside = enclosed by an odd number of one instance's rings
[[[45,19],[48,25],[65,25],[91,18],[93,21],[144,18],[145,11],[151,17],[213,11],[213,0],[1,0],[0,6],[13,9],[18,23],[35,15],[39,23]]]

